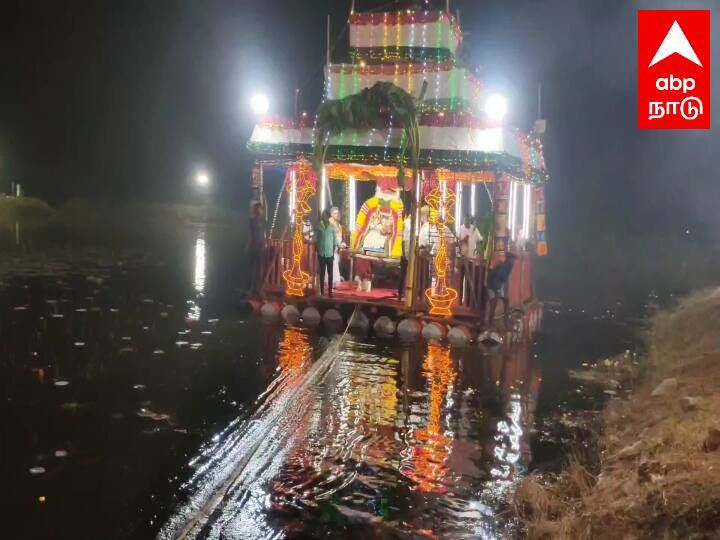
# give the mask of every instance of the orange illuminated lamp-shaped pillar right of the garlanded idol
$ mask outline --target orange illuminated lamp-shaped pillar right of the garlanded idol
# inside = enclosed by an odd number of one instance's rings
[[[447,284],[450,267],[447,256],[447,226],[455,221],[455,193],[448,189],[447,181],[440,180],[425,200],[430,207],[430,223],[435,225],[439,236],[435,254],[435,286],[426,289],[425,296],[430,302],[430,315],[449,317],[452,315],[452,304],[458,297],[458,292]]]

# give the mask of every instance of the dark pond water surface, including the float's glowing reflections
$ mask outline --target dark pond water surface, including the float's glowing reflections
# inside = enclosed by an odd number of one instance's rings
[[[540,417],[585,406],[566,369],[632,339],[560,307],[495,353],[264,326],[222,236],[5,278],[5,537],[513,536]]]

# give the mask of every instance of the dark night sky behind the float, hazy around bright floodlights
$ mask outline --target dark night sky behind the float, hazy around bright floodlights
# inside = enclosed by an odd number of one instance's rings
[[[357,0],[357,9],[385,3]],[[348,36],[340,32],[349,7],[349,0],[6,0],[0,182],[22,182],[28,194],[54,202],[177,200],[203,164],[216,195],[241,204],[251,167],[249,96],[264,89],[273,112],[290,114],[299,85],[301,109],[314,111],[325,16],[332,14],[334,60],[346,60]],[[553,235],[568,230],[583,231],[590,247],[604,234],[662,238],[688,229],[717,243],[718,114],[710,131],[636,127],[637,9],[673,7],[716,6],[452,1],[467,54],[486,85],[508,95],[511,122],[531,125],[542,82],[551,249]],[[716,11],[714,64],[717,22]]]

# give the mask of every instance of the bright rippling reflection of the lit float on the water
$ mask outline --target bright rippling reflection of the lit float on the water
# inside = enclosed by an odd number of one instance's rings
[[[527,347],[455,356],[435,344],[347,341],[313,363],[310,343],[304,331],[285,330],[278,375],[256,413],[196,458],[204,464],[185,486],[194,503],[161,537],[197,510],[208,485],[226,496],[190,537],[338,528],[388,538],[501,536],[497,512],[530,459],[537,384]],[[229,489],[238,463],[242,481]]]

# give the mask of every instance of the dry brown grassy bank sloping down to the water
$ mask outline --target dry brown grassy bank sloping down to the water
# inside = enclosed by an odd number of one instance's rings
[[[519,487],[530,538],[720,538],[720,289],[650,323],[643,357],[597,377],[631,391],[608,403],[595,450]]]

